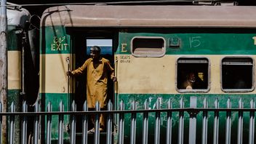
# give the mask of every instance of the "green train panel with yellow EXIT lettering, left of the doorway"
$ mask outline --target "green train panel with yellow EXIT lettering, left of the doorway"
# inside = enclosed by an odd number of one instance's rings
[[[40,54],[69,54],[70,36],[63,25],[42,27]]]

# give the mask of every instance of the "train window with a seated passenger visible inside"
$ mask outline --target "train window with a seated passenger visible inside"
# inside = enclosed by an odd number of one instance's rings
[[[177,60],[178,92],[209,91],[209,60],[205,57],[181,57]]]

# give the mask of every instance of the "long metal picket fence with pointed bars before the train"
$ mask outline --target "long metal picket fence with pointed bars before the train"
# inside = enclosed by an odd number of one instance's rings
[[[100,111],[100,106],[99,103],[96,103],[96,108],[95,111],[88,111],[87,108],[87,103],[84,103],[84,111],[76,111],[76,104],[73,102],[71,105],[71,111],[64,111],[64,105],[63,102],[60,102],[59,105],[59,111],[52,111],[52,105],[51,103],[48,103],[47,105],[47,111],[45,112],[41,112],[40,110],[40,105],[39,103],[36,103],[36,105],[34,106],[34,112],[28,112],[28,106],[27,104],[24,102],[23,103],[23,111],[22,112],[15,112],[15,105],[12,103],[11,105],[11,111],[7,112],[7,113],[0,113],[0,123],[2,124],[2,116],[8,116],[9,118],[9,143],[15,143],[14,142],[14,137],[15,137],[15,116],[21,116],[22,118],[22,140],[21,142],[23,144],[28,143],[27,140],[27,127],[28,127],[28,116],[34,116],[34,130],[33,130],[33,143],[37,144],[37,143],[41,143],[40,142],[40,135],[41,135],[41,130],[40,130],[40,124],[42,124],[40,122],[40,116],[45,116],[46,117],[46,140],[45,143],[51,143],[52,142],[52,137],[51,137],[51,133],[52,133],[52,116],[53,115],[57,115],[58,116],[58,140],[57,143],[62,144],[63,143],[63,129],[64,129],[64,118],[63,116],[65,115],[69,115],[70,116],[70,125],[71,125],[71,131],[70,131],[70,143],[75,144],[76,143],[76,118],[77,116],[82,116],[82,140],[81,143],[88,143],[88,116],[90,114],[95,114],[95,133],[94,133],[94,142],[95,144],[99,144],[100,143],[100,113],[105,113],[106,115],[106,125],[107,125],[107,129],[106,129],[106,140],[105,143],[107,144],[111,144],[113,143],[113,119],[115,116],[117,119],[117,133],[118,133],[118,137],[116,139],[116,141],[114,143],[126,143],[126,141],[124,141],[124,119],[125,119],[125,115],[127,113],[129,113],[130,116],[130,121],[128,121],[130,123],[130,134],[129,134],[129,143],[131,144],[135,144],[136,143],[136,138],[140,138],[142,143],[155,143],[155,144],[159,144],[160,143],[160,139],[161,139],[161,135],[166,135],[166,140],[165,143],[172,143],[172,135],[175,131],[172,130],[172,122],[173,122],[173,116],[172,113],[179,113],[179,120],[178,120],[178,131],[176,132],[178,137],[177,138],[177,143],[178,144],[183,144],[184,143],[184,139],[188,139],[188,143],[190,144],[194,144],[197,143],[196,140],[196,124],[198,124],[196,122],[197,118],[197,114],[198,113],[202,113],[201,114],[201,140],[200,142],[202,144],[206,144],[207,143],[207,137],[212,137],[212,143],[217,144],[220,143],[219,140],[219,131],[220,131],[220,126],[219,126],[219,113],[220,112],[224,112],[225,113],[225,144],[230,144],[231,143],[231,119],[232,115],[231,112],[237,112],[238,113],[238,119],[237,119],[237,135],[236,135],[236,141],[237,143],[241,144],[243,143],[243,124],[244,124],[244,116],[243,113],[249,113],[249,135],[247,136],[248,138],[248,143],[252,144],[254,143],[255,140],[255,101],[254,100],[250,100],[250,106],[249,108],[244,108],[243,105],[243,100],[240,99],[239,100],[239,107],[238,108],[231,108],[231,100],[228,98],[226,104],[227,107],[226,108],[219,108],[219,100],[215,100],[215,108],[208,108],[208,103],[207,103],[207,99],[204,99],[203,102],[203,107],[202,108],[196,108],[196,97],[191,97],[190,98],[190,107],[189,108],[185,108],[184,107],[184,100],[183,98],[181,98],[179,100],[179,105],[180,108],[172,108],[172,100],[168,100],[167,102],[167,108],[161,108],[161,100],[157,99],[156,100],[156,108],[155,109],[149,109],[148,108],[148,100],[145,100],[145,103],[143,105],[144,109],[137,109],[137,105],[135,103],[135,101],[133,101],[131,103],[131,109],[130,110],[124,110],[124,103],[123,101],[121,101],[121,103],[119,103],[119,110],[113,110],[113,104],[111,102],[108,103],[108,108],[107,111]],[[1,103],[0,103],[0,111],[1,111]],[[212,112],[214,113],[214,120],[212,122],[213,124],[213,135],[208,135],[208,113]],[[142,113],[143,114],[143,130],[141,133],[140,137],[136,137],[136,127],[137,127],[137,113]],[[148,123],[148,118],[149,115],[148,113],[155,113],[155,122],[154,122],[154,138],[153,138],[153,142],[148,142],[148,127],[149,127],[149,123]],[[166,129],[164,134],[161,133],[160,131],[160,127],[161,127],[161,115],[165,113],[165,115],[167,116],[166,119]],[[187,113],[189,115],[189,126],[188,126],[188,135],[184,135],[184,114]],[[126,121],[127,122],[127,121]],[[0,128],[1,128],[1,124],[0,124]],[[224,129],[224,127],[222,127],[221,129]],[[1,131],[0,131],[1,132]],[[1,135],[1,134],[0,134]],[[0,137],[1,138],[1,137]],[[0,140],[1,141],[1,140]],[[222,142],[224,143],[224,142]]]

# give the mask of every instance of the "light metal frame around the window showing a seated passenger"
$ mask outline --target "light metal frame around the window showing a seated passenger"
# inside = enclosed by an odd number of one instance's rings
[[[208,60],[208,86],[207,89],[178,89],[177,87],[177,66],[178,66],[178,60],[180,59],[207,59]],[[181,57],[177,57],[176,62],[175,62],[175,89],[177,90],[177,92],[180,93],[206,93],[209,92],[211,88],[211,63],[208,57],[201,57],[201,56],[181,56]]]

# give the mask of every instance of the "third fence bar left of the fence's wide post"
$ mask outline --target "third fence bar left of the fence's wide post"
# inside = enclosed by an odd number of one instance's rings
[[[156,109],[160,109],[160,99],[156,100]],[[155,125],[155,144],[159,144],[160,140],[160,112],[156,111],[156,125]]]

